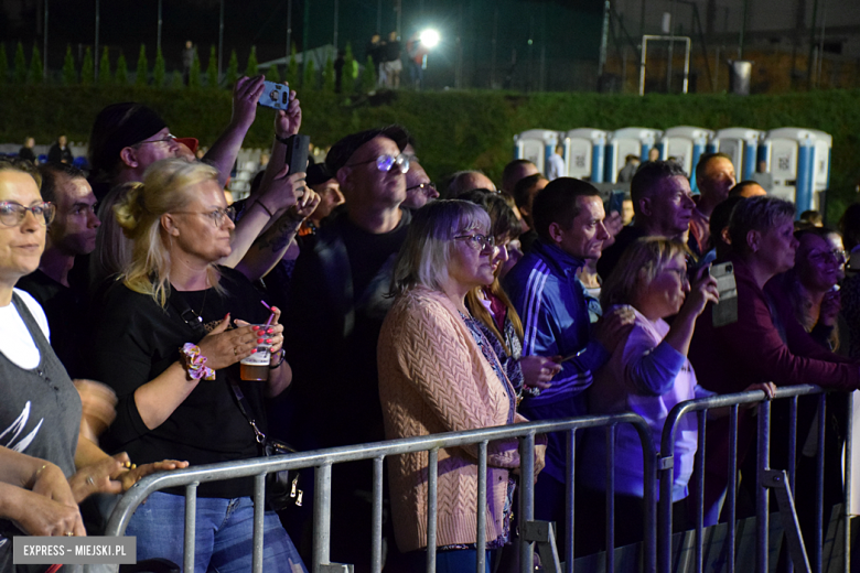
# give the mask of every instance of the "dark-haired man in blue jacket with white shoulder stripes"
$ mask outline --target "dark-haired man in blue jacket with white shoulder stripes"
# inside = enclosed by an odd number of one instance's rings
[[[615,311],[592,328],[585,292],[577,279],[577,271],[588,259],[600,258],[610,238],[596,188],[559,177],[535,197],[531,217],[538,240],[505,278],[505,288],[523,321],[523,356],[558,356],[563,361],[552,385],[539,396],[525,398],[520,412],[529,420],[583,415],[583,391],[591,386],[591,372],[624,339],[633,314]],[[559,432],[548,437],[547,465],[535,487],[535,518],[561,526],[567,436]]]

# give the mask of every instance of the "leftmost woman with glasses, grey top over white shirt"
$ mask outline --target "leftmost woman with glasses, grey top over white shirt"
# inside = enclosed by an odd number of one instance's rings
[[[14,288],[39,267],[54,216],[54,206],[42,201],[40,183],[32,165],[0,162],[0,447],[4,458],[6,450],[30,456],[9,458],[0,467],[6,476],[25,471],[26,477],[18,474],[21,485],[44,496],[31,499],[18,516],[10,512],[11,498],[4,499],[0,513],[13,521],[0,519],[0,571],[14,569],[12,543],[4,537],[21,531],[84,534],[77,502],[94,493],[121,493],[153,471],[184,466],[160,462],[132,469],[125,453],[108,456],[84,437],[88,428],[80,398],[51,349],[45,314],[35,300]],[[33,464],[33,458],[41,463]],[[30,471],[21,465],[24,461],[32,464]],[[53,485],[45,488],[42,479]],[[45,527],[49,523],[65,523],[66,529]]]

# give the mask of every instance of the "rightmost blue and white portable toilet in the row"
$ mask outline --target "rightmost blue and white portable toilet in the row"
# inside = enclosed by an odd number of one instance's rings
[[[765,136],[760,159],[773,176],[771,194],[793,201],[797,215],[819,209],[830,182],[834,138],[815,129],[780,128]]]

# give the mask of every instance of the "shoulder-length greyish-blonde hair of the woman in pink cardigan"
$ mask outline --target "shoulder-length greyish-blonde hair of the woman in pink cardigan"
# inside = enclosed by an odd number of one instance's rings
[[[418,209],[395,261],[391,294],[417,285],[440,290],[448,279],[452,239],[472,229],[490,231],[490,215],[474,203],[442,199]]]

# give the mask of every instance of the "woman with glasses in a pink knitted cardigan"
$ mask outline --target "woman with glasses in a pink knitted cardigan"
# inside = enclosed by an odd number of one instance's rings
[[[438,201],[416,212],[393,280],[394,306],[379,336],[379,397],[388,439],[523,422],[516,393],[466,293],[493,282],[495,246],[486,212]],[[439,452],[438,571],[474,571],[477,447]],[[426,452],[389,461],[397,544],[410,571],[424,571]],[[492,442],[487,456],[487,550],[509,536],[515,441]],[[536,467],[542,467],[542,446]],[[487,571],[490,560],[487,560]]]

